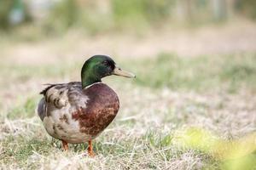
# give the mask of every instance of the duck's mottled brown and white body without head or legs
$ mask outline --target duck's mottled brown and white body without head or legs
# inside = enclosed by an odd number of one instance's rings
[[[38,115],[44,127],[51,136],[69,143],[96,138],[119,111],[117,94],[102,82],[84,89],[81,82],[55,84],[42,94]]]

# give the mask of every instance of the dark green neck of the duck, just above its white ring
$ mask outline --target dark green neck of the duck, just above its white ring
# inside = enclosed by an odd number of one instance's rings
[[[82,88],[86,88],[95,82],[102,82],[101,77],[97,77],[93,71],[84,68],[81,72]]]

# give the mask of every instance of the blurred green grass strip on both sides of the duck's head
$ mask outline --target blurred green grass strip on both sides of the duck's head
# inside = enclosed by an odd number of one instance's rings
[[[84,61],[81,61],[82,63]],[[256,90],[256,54],[205,55],[185,58],[176,54],[159,54],[156,59],[119,61],[126,70],[136,73],[136,85],[148,88],[207,91],[225,88],[236,93],[241,88]],[[38,77],[79,78],[79,61],[58,65],[1,65],[1,75],[17,82]],[[17,74],[19,73],[19,74]],[[113,78],[111,78],[113,79]],[[79,80],[78,80],[79,81]],[[114,80],[113,80],[114,81]]]

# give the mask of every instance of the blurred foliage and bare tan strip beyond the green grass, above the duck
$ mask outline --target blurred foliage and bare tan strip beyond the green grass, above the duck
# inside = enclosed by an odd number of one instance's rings
[[[2,46],[19,43],[21,47],[1,55],[15,55],[18,61],[22,57],[38,60],[39,55],[49,59],[55,54],[49,52],[48,42],[70,43],[72,50],[57,54],[61,59],[71,51],[73,57],[116,54],[129,58],[162,52],[195,56],[253,51],[255,8],[253,0],[2,1]],[[39,53],[39,48],[51,57]],[[24,56],[19,50],[28,53]]]

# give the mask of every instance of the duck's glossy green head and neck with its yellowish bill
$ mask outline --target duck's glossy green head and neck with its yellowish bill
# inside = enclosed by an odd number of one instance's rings
[[[84,62],[81,71],[82,87],[101,82],[103,77],[111,75],[134,78],[135,75],[119,68],[113,59],[106,55],[94,55]]]

